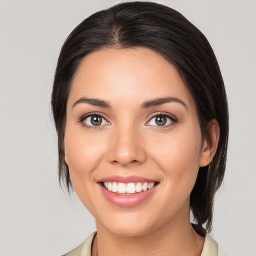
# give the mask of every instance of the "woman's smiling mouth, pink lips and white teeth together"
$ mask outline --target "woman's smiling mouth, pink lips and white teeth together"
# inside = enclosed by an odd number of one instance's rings
[[[142,203],[151,197],[159,184],[158,181],[136,177],[109,177],[97,183],[104,197],[119,207],[132,207]]]

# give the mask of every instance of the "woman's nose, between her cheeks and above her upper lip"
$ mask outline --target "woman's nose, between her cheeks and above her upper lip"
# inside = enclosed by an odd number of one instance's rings
[[[108,161],[122,166],[144,162],[146,152],[142,136],[134,127],[116,128],[109,141]]]

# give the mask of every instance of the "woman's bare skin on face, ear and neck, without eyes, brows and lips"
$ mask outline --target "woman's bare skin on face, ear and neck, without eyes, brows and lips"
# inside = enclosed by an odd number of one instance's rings
[[[144,101],[167,96],[186,106],[141,108]],[[105,100],[111,108],[73,106],[81,97]],[[103,125],[79,121],[90,112],[101,113]],[[159,113],[177,121],[157,126],[150,118]],[[64,149],[74,190],[96,220],[92,255],[200,255],[204,237],[190,225],[189,194],[198,168],[216,150],[217,121],[209,127],[210,143],[201,137],[194,100],[177,70],[154,51],[108,48],[84,57],[67,101]],[[159,184],[142,203],[119,207],[97,183],[111,175],[139,175]]]

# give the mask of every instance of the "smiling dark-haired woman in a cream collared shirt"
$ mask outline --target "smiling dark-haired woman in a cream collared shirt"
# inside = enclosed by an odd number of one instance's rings
[[[92,14],[62,46],[51,103],[60,181],[97,227],[66,255],[218,255],[202,225],[224,175],[228,111],[194,25],[153,2]]]

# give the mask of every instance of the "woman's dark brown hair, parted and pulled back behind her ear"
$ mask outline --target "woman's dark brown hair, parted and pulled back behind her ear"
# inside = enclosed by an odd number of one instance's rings
[[[213,160],[200,167],[190,195],[190,208],[199,226],[212,225],[213,199],[225,170],[228,109],[219,66],[205,36],[178,11],[154,2],[123,2],[98,11],[77,25],[65,40],[57,62],[51,105],[58,135],[58,174],[71,187],[64,161],[66,103],[70,85],[82,58],[104,47],[147,47],[178,70],[195,100],[203,138],[216,118],[220,127]]]

